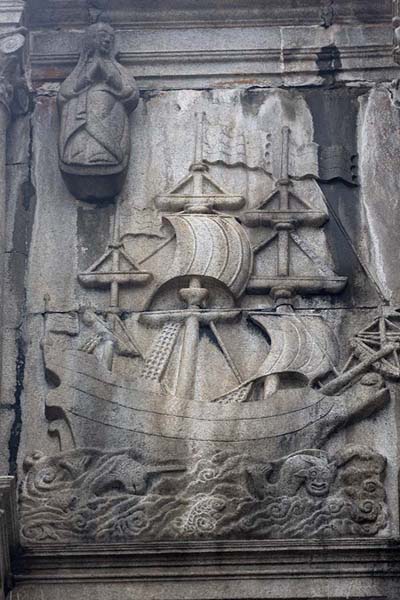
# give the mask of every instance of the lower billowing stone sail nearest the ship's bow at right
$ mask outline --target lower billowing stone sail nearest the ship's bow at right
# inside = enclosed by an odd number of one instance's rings
[[[330,327],[320,317],[252,315],[271,338],[271,349],[254,379],[296,372],[312,382],[332,371],[339,348]]]

